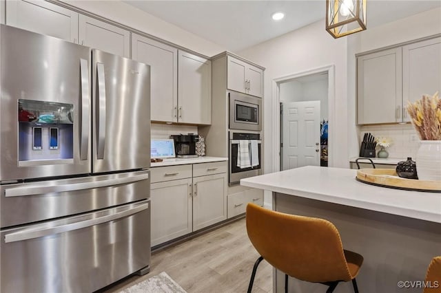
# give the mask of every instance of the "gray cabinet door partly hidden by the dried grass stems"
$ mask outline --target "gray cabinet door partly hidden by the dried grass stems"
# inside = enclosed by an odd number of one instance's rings
[[[415,102],[423,94],[441,91],[441,37],[402,47],[402,100]],[[404,121],[410,121],[403,111]]]

